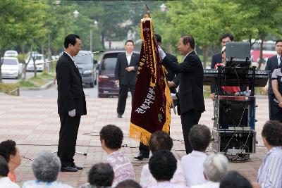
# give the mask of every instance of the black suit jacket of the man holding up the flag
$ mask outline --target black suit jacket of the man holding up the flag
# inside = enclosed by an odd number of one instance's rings
[[[194,109],[195,111],[205,111],[203,79],[204,71],[200,58],[192,51],[183,63],[173,63],[168,56],[163,61],[163,65],[171,69],[174,73],[180,73],[180,85],[178,92],[180,113],[185,113]],[[178,111],[179,113],[179,111]]]

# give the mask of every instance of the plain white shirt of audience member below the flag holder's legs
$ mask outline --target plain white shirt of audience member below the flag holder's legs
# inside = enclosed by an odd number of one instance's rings
[[[206,153],[200,151],[192,151],[187,156],[181,158],[181,166],[185,175],[186,185],[204,184],[204,160],[207,158]]]

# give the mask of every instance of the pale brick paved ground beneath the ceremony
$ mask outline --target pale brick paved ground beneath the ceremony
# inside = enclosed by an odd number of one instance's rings
[[[73,187],[87,182],[87,172],[94,163],[99,163],[106,153],[102,151],[99,141],[99,130],[106,124],[115,124],[121,127],[125,134],[123,144],[126,155],[132,159],[137,175],[140,178],[142,165],[148,161],[135,161],[133,156],[138,153],[138,143],[128,138],[130,122],[130,101],[128,100],[123,118],[116,117],[116,98],[114,99],[93,99],[87,96],[88,115],[82,117],[80,130],[78,133],[77,151],[87,153],[87,156],[75,154],[75,161],[83,166],[84,170],[77,173],[59,173],[59,180],[66,182]],[[202,114],[200,123],[212,128],[212,102],[205,101],[206,112]],[[266,153],[266,148],[262,145],[260,132],[262,125],[268,118],[267,99],[257,99],[257,153],[250,156],[251,160],[245,163],[230,163],[232,170],[238,170],[249,180],[255,181],[257,170],[262,158]],[[26,180],[34,179],[31,169],[32,158],[37,156],[42,150],[56,151],[56,144],[59,138],[59,116],[57,115],[56,99],[37,98],[28,96],[0,96],[0,141],[4,139],[14,139],[23,156],[22,164],[16,170],[18,184],[23,184]],[[85,134],[87,133],[87,134]],[[171,137],[174,140],[173,153],[177,158],[185,155],[182,130],[180,127],[180,117],[172,115]],[[180,140],[180,141],[179,141]]]

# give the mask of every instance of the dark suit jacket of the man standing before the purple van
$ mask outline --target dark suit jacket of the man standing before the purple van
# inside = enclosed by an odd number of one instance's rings
[[[134,52],[131,56],[129,65],[125,52],[118,54],[118,58],[116,60],[115,79],[119,80],[119,84],[135,85],[137,78],[138,61],[139,54],[136,54]],[[125,70],[125,68],[128,68],[129,66],[134,66],[134,70],[130,72]]]

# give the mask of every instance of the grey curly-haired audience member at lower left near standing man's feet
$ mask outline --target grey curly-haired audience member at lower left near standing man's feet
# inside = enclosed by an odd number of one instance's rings
[[[36,180],[23,183],[23,188],[71,188],[68,184],[57,182],[61,161],[54,153],[42,152],[32,161],[32,171]]]

